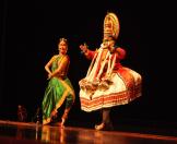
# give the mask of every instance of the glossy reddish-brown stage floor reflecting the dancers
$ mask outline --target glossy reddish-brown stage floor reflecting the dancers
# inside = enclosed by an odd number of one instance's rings
[[[0,144],[177,144],[176,136],[0,120]]]

